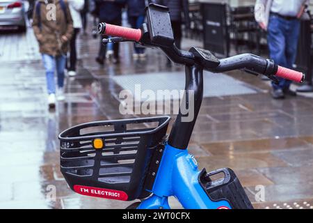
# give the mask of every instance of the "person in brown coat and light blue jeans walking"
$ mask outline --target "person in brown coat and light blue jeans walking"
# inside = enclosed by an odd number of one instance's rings
[[[63,84],[66,54],[73,33],[73,20],[66,0],[39,0],[33,12],[33,31],[38,40],[47,76],[49,107],[55,107],[58,74],[58,100],[64,100]]]

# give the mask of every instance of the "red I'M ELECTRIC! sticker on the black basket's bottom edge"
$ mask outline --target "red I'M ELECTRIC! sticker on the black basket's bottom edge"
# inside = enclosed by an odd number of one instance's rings
[[[114,199],[120,201],[127,201],[128,195],[120,190],[110,190],[110,189],[103,189],[98,187],[87,187],[81,185],[74,185],[74,191],[91,197],[101,197],[105,199]]]

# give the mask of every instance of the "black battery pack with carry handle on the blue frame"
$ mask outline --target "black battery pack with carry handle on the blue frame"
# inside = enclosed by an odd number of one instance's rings
[[[211,179],[212,176],[220,173],[224,174],[224,178]],[[233,209],[253,209],[246,192],[232,169],[218,169],[210,173],[203,169],[198,180],[211,201],[225,200],[230,203]]]

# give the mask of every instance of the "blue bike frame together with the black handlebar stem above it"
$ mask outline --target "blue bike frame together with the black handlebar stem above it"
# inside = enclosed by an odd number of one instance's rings
[[[203,93],[203,72],[198,66],[186,66],[185,90],[192,90],[195,95],[194,118],[191,122],[182,121],[179,110],[176,121],[170,132],[163,157],[157,172],[152,196],[145,199],[138,208],[170,208],[168,197],[174,196],[188,209],[231,208],[227,201],[211,201],[199,183],[198,162],[188,153],[189,140],[193,126],[201,107]]]

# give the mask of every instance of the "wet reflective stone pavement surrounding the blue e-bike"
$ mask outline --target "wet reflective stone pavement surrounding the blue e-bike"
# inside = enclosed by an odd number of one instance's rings
[[[77,77],[67,77],[65,102],[49,111],[32,35],[31,29],[26,36],[0,35],[0,45],[6,45],[0,55],[0,208],[125,208],[132,202],[82,197],[67,187],[57,135],[79,123],[137,117],[118,112],[122,86],[117,77],[180,72],[184,78],[184,68],[168,68],[157,49],[148,49],[146,60],[134,61],[130,43],[121,45],[119,65],[106,61],[102,67],[94,60],[98,40],[80,35]],[[193,41],[184,40],[188,45]],[[272,100],[261,79],[242,72],[227,75],[255,92],[204,98],[190,143],[200,168],[234,169],[255,208],[313,208],[313,99]],[[264,202],[255,199],[259,188]],[[179,208],[175,199],[171,203]]]

